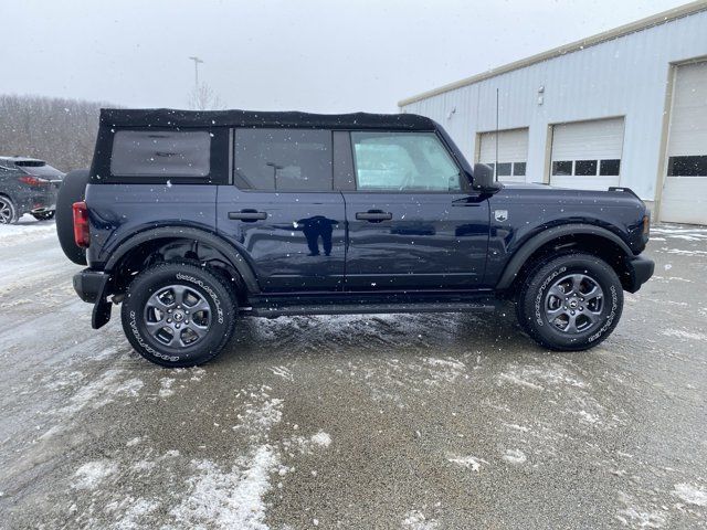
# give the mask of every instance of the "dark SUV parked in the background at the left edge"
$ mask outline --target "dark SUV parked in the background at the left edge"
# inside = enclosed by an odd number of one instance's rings
[[[15,223],[25,213],[40,221],[52,219],[63,178],[44,160],[0,157],[0,224]]]

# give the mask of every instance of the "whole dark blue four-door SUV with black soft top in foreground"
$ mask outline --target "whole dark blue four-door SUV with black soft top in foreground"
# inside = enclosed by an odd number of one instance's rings
[[[648,230],[631,190],[494,182],[404,114],[105,109],[57,215],[93,327],[122,303],[133,347],[168,367],[209,361],[249,315],[508,300],[540,344],[584,350],[653,274]]]

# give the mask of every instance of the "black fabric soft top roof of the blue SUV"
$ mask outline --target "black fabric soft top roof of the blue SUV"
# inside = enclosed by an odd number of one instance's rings
[[[416,114],[309,114],[172,108],[102,108],[101,124],[109,127],[303,127],[403,130],[437,128],[432,119]]]

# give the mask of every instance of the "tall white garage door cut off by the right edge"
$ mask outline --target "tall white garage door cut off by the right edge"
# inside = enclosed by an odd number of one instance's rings
[[[707,224],[707,62],[678,66],[661,220]]]

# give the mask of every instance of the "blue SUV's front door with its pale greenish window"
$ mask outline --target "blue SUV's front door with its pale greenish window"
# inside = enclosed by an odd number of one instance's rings
[[[442,139],[412,131],[352,131],[350,139],[347,289],[477,287],[488,201],[469,189]]]

